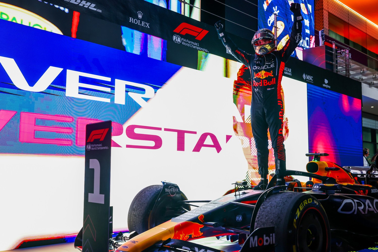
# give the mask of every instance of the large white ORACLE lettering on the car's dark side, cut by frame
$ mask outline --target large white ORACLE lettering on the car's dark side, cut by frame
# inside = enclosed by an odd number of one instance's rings
[[[346,213],[346,214],[357,214],[357,212],[362,213],[362,214],[366,214],[368,212],[377,213],[378,212],[377,207],[378,207],[378,199],[374,199],[373,204],[370,202],[369,199],[367,199],[365,203],[357,199],[344,199],[344,201],[342,201],[342,204],[337,211],[339,213]]]

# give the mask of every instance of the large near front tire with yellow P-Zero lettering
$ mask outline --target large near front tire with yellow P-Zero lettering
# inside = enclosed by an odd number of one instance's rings
[[[322,205],[307,193],[279,192],[265,199],[254,228],[274,226],[276,252],[328,252],[330,227]]]

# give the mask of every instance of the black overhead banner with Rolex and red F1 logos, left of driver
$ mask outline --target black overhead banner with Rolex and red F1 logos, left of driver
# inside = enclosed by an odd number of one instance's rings
[[[101,3],[84,1],[87,4],[81,3],[79,0],[52,0],[50,2],[178,43],[182,45],[183,50],[185,50],[185,47],[194,48],[235,60],[231,54],[226,52],[222,42],[218,39],[218,34],[213,25],[199,22],[147,1],[130,0],[127,2],[118,1],[117,3],[113,1],[101,1]],[[90,8],[93,4],[95,6],[92,8],[97,10]],[[99,9],[101,12],[98,11]],[[232,39],[241,48],[253,52],[249,40],[238,36],[232,36]]]

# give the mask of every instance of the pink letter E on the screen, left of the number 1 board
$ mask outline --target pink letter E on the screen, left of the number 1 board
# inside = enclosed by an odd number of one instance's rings
[[[36,131],[47,131],[56,133],[71,134],[73,132],[72,128],[69,127],[57,127],[57,126],[41,126],[36,125],[36,119],[53,120],[59,122],[72,122],[73,117],[71,116],[58,116],[58,115],[48,115],[48,114],[37,114],[21,112],[20,114],[20,142],[29,142],[37,144],[57,144],[57,145],[72,145],[70,139],[60,139],[60,138],[36,138]]]

